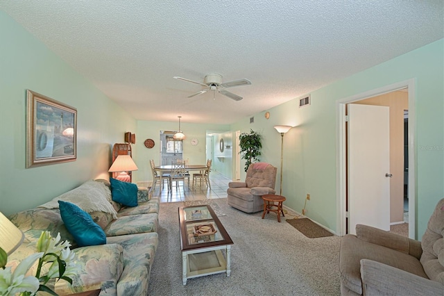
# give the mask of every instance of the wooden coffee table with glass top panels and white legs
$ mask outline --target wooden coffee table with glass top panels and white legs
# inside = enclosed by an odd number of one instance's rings
[[[181,206],[179,224],[183,284],[193,277],[221,272],[230,277],[233,242],[213,209],[207,205]]]

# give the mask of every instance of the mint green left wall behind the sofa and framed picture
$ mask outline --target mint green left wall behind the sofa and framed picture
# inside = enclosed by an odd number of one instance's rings
[[[0,211],[49,201],[108,177],[111,149],[136,122],[83,76],[0,11]],[[26,169],[26,90],[77,108],[77,160]]]

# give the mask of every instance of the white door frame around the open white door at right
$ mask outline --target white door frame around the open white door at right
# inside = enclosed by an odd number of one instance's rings
[[[407,120],[407,126],[414,126],[414,117],[412,116],[412,114],[414,113],[414,80],[410,79],[409,81],[404,81],[401,83],[395,83],[393,85],[388,85],[384,88],[379,88],[376,90],[371,90],[369,92],[365,92],[362,94],[357,94],[355,96],[352,97],[348,97],[345,99],[341,99],[339,101],[336,101],[336,128],[337,128],[337,150],[338,153],[336,154],[336,161],[338,163],[337,166],[337,171],[336,171],[336,176],[337,176],[337,192],[336,192],[336,199],[337,199],[337,229],[338,229],[338,235],[343,236],[345,233],[348,233],[348,200],[347,200],[347,187],[348,187],[348,180],[347,180],[347,150],[346,150],[346,140],[347,140],[347,133],[346,133],[346,124],[345,124],[345,115],[346,115],[346,104],[349,103],[357,103],[358,101],[364,100],[364,99],[368,99],[370,97],[377,97],[377,96],[381,96],[382,94],[388,94],[390,92],[394,92],[394,91],[400,91],[400,90],[409,90],[407,92],[407,96],[408,96],[408,104],[409,104],[409,118]],[[402,110],[402,113],[404,111]],[[402,128],[404,126],[403,121],[400,123],[402,125]],[[400,135],[402,137],[402,142],[401,145],[403,146],[404,144],[404,140],[403,140],[403,135],[404,132],[401,132],[402,135]],[[414,178],[415,178],[415,170],[414,170],[414,129],[411,128],[409,129],[408,133],[408,147],[407,147],[407,151],[408,151],[408,163],[409,163],[409,171],[410,174],[408,176],[408,182],[410,184],[410,186],[407,189],[407,195],[409,197],[409,201],[408,201],[408,208],[409,208],[409,225],[411,225],[411,227],[409,227],[409,237],[410,238],[414,238],[415,237],[415,220],[414,220],[414,211],[415,211],[415,203],[414,203]],[[404,179],[404,173],[403,173],[403,166],[404,166],[404,157],[402,156],[402,167],[401,167],[401,172],[399,173],[399,176],[402,177],[401,180],[403,182]],[[402,190],[402,198],[403,198],[403,187],[401,188]],[[401,203],[400,205],[400,211],[403,210],[403,203]]]

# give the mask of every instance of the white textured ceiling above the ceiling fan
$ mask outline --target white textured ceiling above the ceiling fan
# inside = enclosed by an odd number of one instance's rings
[[[443,38],[443,0],[1,0],[138,120],[230,124]],[[207,92],[219,73],[233,101]]]

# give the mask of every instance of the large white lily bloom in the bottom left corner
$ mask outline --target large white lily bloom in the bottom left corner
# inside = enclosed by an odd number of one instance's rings
[[[11,268],[0,269],[0,295],[9,296],[22,292],[35,293],[39,289],[40,282],[36,277],[25,277],[28,269],[38,259],[42,258],[43,253],[35,253],[17,265],[14,272]]]

